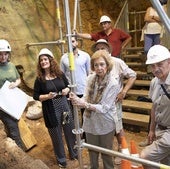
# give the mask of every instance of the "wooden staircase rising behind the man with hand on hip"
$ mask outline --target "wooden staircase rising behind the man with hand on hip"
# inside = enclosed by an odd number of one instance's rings
[[[122,53],[122,59],[137,73],[137,79],[133,87],[128,91],[122,106],[124,124],[147,129],[152,103],[138,101],[138,98],[139,96],[148,98],[150,81],[153,75],[147,73],[146,56],[143,53],[142,47],[126,48]],[[127,80],[125,79],[124,84],[126,82]]]

